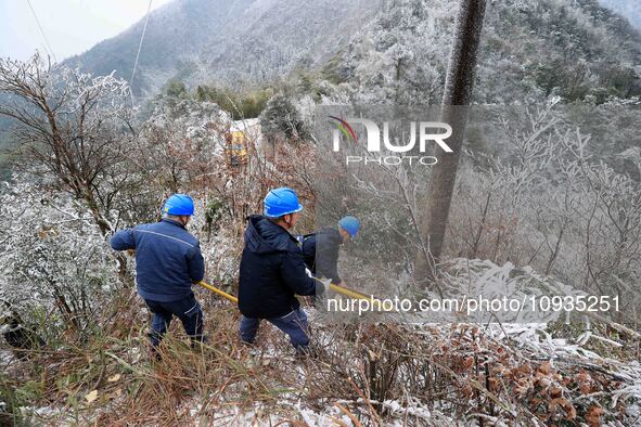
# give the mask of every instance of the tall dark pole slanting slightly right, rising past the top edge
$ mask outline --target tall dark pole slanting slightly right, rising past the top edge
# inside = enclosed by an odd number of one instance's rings
[[[452,135],[447,143],[453,153],[439,156],[438,163],[432,169],[425,218],[421,227],[423,242],[427,245],[432,257],[426,259],[424,253],[419,251],[414,270],[414,279],[419,283],[433,282],[443,250],[459,158],[465,137],[467,121],[465,105],[470,104],[474,88],[485,4],[486,0],[461,0],[454,24],[454,40],[441,103],[441,121],[452,127]]]

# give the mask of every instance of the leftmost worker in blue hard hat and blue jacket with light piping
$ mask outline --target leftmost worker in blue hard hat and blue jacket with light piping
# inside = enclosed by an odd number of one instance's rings
[[[153,313],[149,336],[158,359],[157,347],[174,316],[192,341],[204,339],[203,311],[191,286],[203,280],[205,263],[198,241],[185,229],[193,214],[192,198],[174,194],[161,222],[120,230],[111,240],[115,250],[136,250],[138,294]]]

